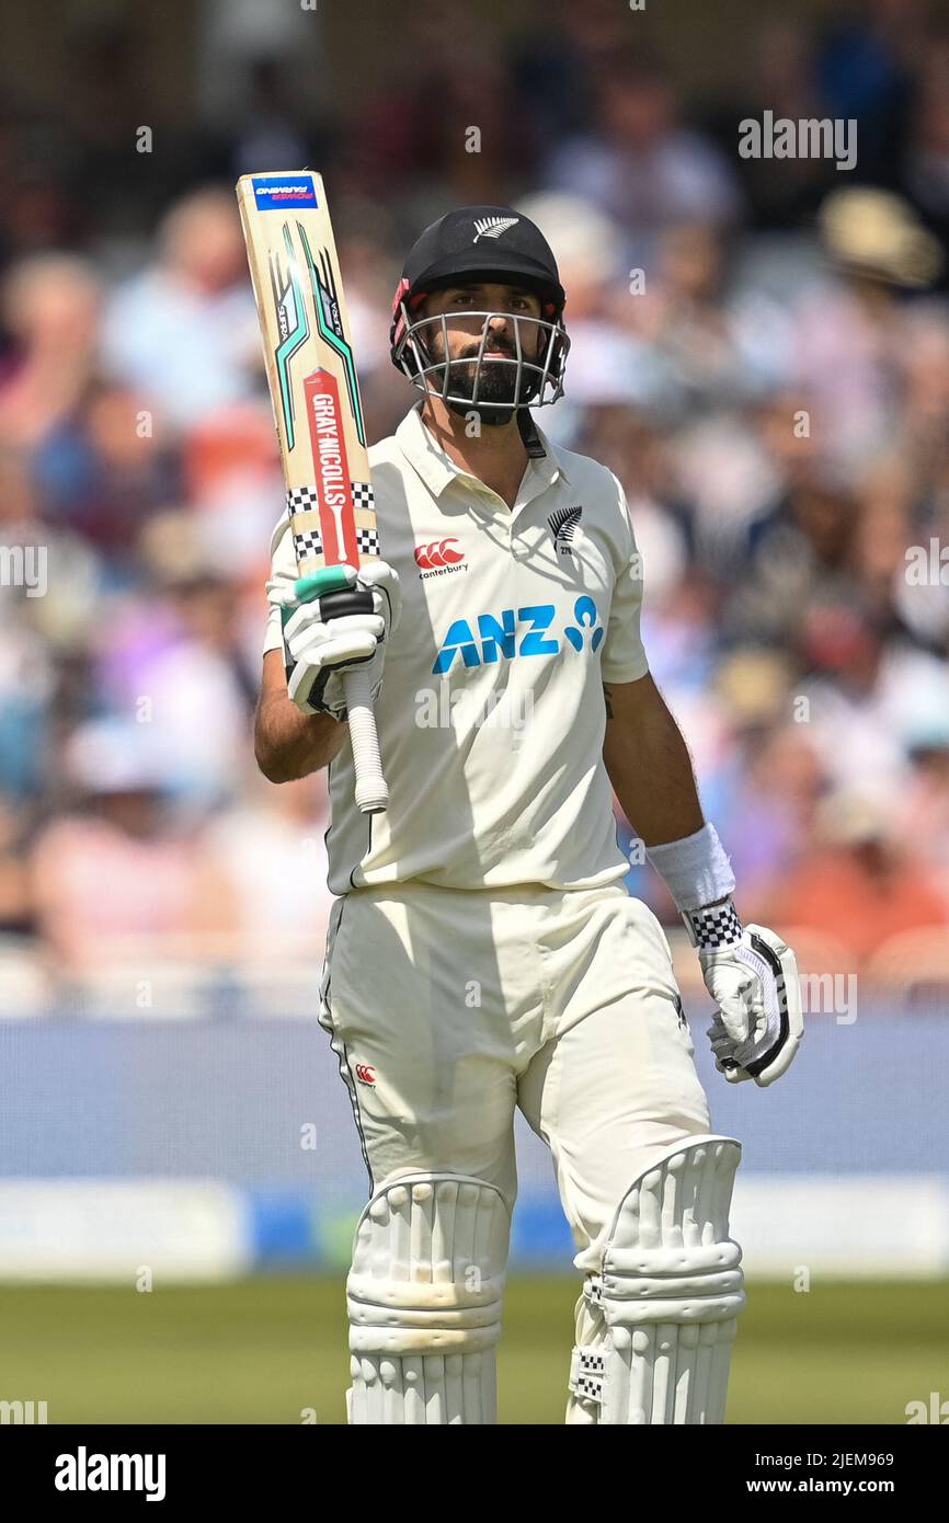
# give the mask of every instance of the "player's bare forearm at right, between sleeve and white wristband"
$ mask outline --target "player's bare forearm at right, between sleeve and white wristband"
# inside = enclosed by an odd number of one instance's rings
[[[606,688],[603,760],[623,813],[647,847],[681,841],[702,829],[702,806],[682,733],[652,678]],[[612,710],[612,716],[611,716]]]

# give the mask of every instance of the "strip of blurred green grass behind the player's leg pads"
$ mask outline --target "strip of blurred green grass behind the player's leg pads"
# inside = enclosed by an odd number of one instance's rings
[[[577,1284],[510,1279],[500,1421],[559,1424]],[[50,1422],[343,1422],[343,1282],[273,1276],[140,1295],[0,1288],[0,1400]],[[905,1422],[949,1397],[949,1284],[751,1285],[730,1422]]]

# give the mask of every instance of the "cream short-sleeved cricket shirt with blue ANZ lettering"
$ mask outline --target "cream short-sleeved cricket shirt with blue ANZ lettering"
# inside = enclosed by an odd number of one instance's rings
[[[621,879],[602,685],[647,672],[623,489],[538,429],[544,457],[509,509],[449,460],[420,407],[369,455],[402,589],[376,701],[388,810],[359,813],[344,746],[329,769],[329,888]],[[276,599],[297,577],[286,516],[271,556],[265,650],[282,646]]]

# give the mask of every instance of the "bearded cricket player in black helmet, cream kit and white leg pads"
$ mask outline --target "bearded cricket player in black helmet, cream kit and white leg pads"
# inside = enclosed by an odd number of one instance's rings
[[[370,454],[382,560],[303,585],[273,536],[256,755],[329,768],[320,1022],[369,1170],[347,1279],[353,1424],[495,1421],[513,1113],[553,1156],[582,1275],[567,1422],[722,1422],[742,1310],[667,940],[625,888],[612,790],[716,1005],[728,1081],[801,1039],[792,952],[742,926],[649,675],[617,478],[554,448],[565,294],[541,231],[449,212],[408,254],[391,356],[422,393]],[[370,663],[388,810],[353,803],[343,678]]]

